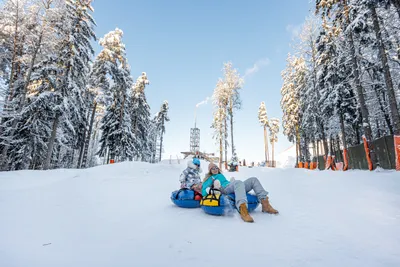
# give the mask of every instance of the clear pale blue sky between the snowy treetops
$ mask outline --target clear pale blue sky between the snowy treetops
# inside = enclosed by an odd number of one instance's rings
[[[93,16],[99,38],[116,27],[123,30],[133,78],[145,71],[150,80],[146,96],[152,113],[164,100],[169,102],[171,121],[166,125],[163,158],[176,158],[189,150],[195,106],[211,97],[222,77],[223,62],[231,61],[245,76],[243,105],[234,125],[237,153],[246,161],[261,161],[264,145],[258,108],[265,101],[270,118],[282,117],[280,73],[290,42],[312,9],[309,2],[97,0]],[[210,129],[212,112],[211,101],[201,105],[197,126],[201,150],[218,153]],[[280,130],[277,153],[291,146]]]

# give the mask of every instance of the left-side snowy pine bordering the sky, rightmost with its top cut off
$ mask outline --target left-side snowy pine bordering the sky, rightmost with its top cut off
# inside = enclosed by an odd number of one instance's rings
[[[87,123],[86,81],[89,62],[94,54],[91,40],[96,39],[95,22],[89,11],[93,11],[91,0],[65,1],[63,23],[60,23],[58,29],[62,41],[58,47],[56,62],[61,69],[57,73],[59,85],[55,94],[60,97],[61,103],[54,108],[55,114],[43,169],[50,168],[58,129],[68,147],[64,156],[69,166],[73,164],[75,150],[84,142],[82,129],[85,129]]]

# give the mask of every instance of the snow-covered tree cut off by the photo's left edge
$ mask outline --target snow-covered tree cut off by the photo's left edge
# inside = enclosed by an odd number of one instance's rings
[[[29,35],[29,5],[26,0],[7,0],[0,9],[1,27],[1,70],[4,85],[4,100],[0,118],[0,167],[9,169],[13,162],[15,150],[14,134],[18,127],[18,113],[22,109],[21,94],[24,87],[23,73],[26,71],[26,61],[22,60],[27,53],[24,45]]]

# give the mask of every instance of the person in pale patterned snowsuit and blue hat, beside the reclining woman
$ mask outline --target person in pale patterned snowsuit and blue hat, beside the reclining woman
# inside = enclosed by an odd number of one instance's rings
[[[183,170],[179,179],[181,188],[194,190],[198,194],[201,194],[201,172],[200,160],[198,158],[193,158],[192,161],[188,161],[187,168]]]

